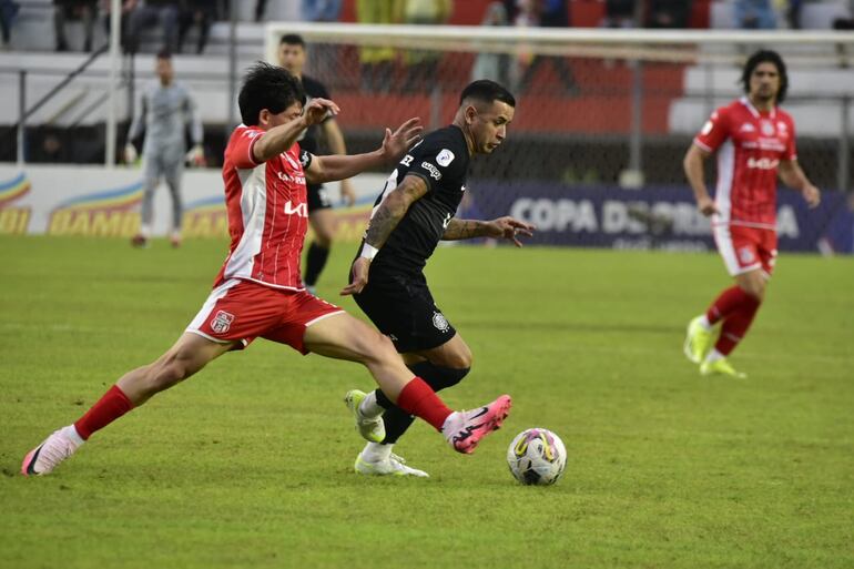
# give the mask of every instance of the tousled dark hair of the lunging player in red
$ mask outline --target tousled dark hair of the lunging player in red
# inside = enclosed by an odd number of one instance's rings
[[[286,69],[256,62],[243,78],[243,87],[237,96],[243,124],[258,123],[258,113],[266,109],[278,114],[295,102],[305,104],[305,91],[299,80]]]

